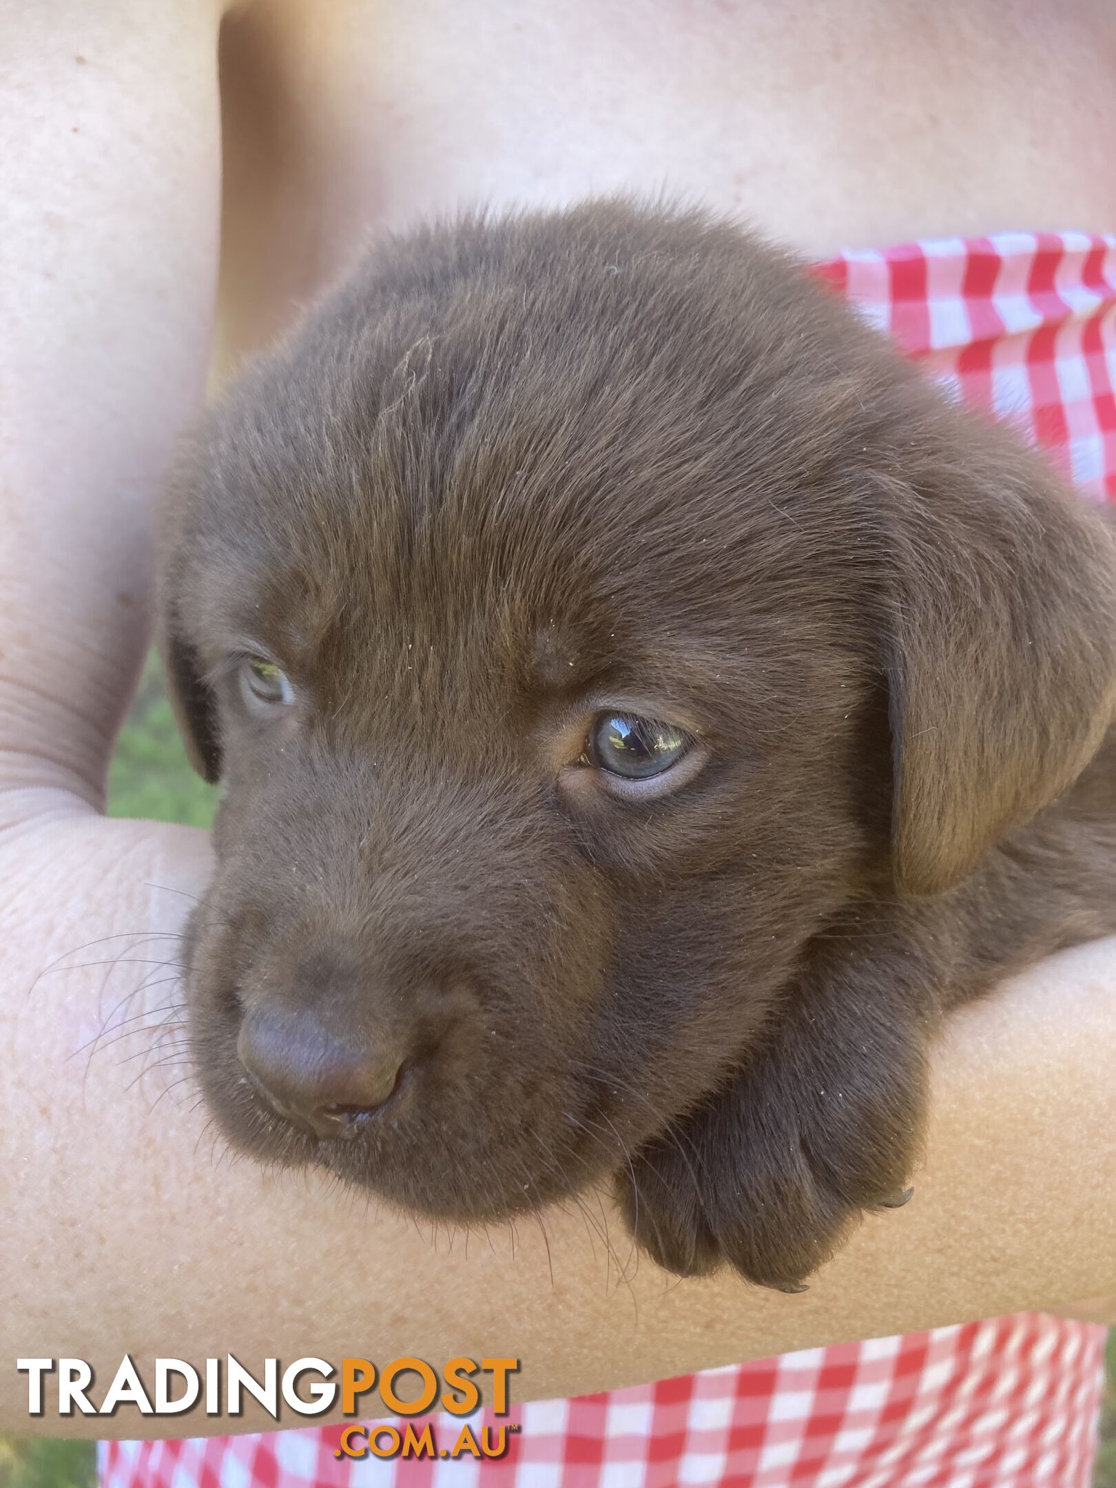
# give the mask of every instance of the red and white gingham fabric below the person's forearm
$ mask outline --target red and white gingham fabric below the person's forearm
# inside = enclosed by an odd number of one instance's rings
[[[1088,1488],[1103,1341],[1101,1327],[1024,1312],[531,1402],[503,1418],[519,1430],[501,1461],[339,1461],[339,1427],[113,1442],[101,1485]],[[460,1418],[429,1420],[437,1449],[457,1440]],[[478,1434],[493,1424],[470,1418]]]

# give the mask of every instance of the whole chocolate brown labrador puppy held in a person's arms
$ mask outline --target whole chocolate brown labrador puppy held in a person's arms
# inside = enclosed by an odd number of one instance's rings
[[[609,1176],[799,1290],[943,1013],[1116,930],[1116,543],[802,265],[597,202],[388,238],[187,442],[228,1138],[423,1216]]]

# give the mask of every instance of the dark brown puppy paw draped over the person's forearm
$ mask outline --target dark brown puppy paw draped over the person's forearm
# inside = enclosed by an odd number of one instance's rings
[[[921,1030],[826,1028],[799,1007],[716,1098],[618,1174],[637,1242],[665,1269],[726,1263],[781,1292],[839,1248],[865,1210],[909,1198],[924,1095]]]

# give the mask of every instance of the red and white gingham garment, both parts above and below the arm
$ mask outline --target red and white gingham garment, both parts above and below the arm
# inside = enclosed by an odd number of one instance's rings
[[[817,274],[958,396],[1045,445],[1088,500],[1116,500],[1116,238],[946,238],[844,253]],[[513,1406],[501,1461],[338,1460],[339,1428],[308,1427],[103,1443],[101,1484],[1088,1488],[1103,1351],[1101,1327],[1019,1314]],[[439,1449],[457,1440],[458,1418],[430,1421]]]

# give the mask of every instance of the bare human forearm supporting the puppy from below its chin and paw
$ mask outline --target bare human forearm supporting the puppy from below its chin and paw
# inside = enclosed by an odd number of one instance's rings
[[[585,1217],[548,1213],[546,1241],[519,1220],[515,1247],[498,1228],[491,1248],[484,1234],[451,1245],[445,1229],[376,1214],[318,1178],[231,1164],[187,1086],[159,1098],[158,1077],[132,1083],[128,1055],[143,1037],[70,1058],[100,1027],[104,967],[24,992],[48,939],[58,951],[115,930],[173,933],[182,893],[204,881],[204,838],[57,820],[1,866],[7,882],[16,868],[25,875],[24,912],[3,927],[0,1247],[13,1298],[0,1317],[3,1428],[176,1430],[129,1408],[28,1421],[13,1370],[28,1354],[88,1359],[103,1381],[125,1353],[147,1370],[158,1356],[226,1351],[248,1367],[268,1356],[515,1356],[515,1396],[528,1399],[1116,1290],[1112,942],[1065,952],[957,1015],[934,1065],[915,1199],[866,1220],[806,1295],[787,1298],[729,1275],[676,1283],[646,1260],[635,1268],[615,1210],[592,1195]],[[138,954],[170,958],[158,946]],[[149,970],[115,973],[109,1006]],[[152,1006],[164,994],[152,991]],[[268,1424],[251,1411],[235,1423],[189,1417],[190,1433]]]

